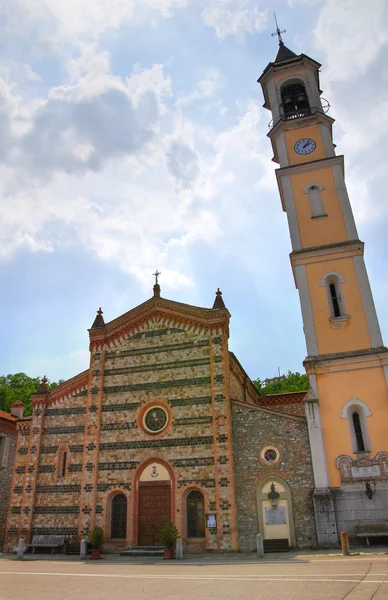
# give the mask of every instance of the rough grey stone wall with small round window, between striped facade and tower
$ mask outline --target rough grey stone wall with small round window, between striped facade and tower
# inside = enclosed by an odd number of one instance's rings
[[[306,420],[232,402],[232,424],[240,550],[255,548],[257,489],[271,475],[285,480],[291,489],[297,547],[315,545],[314,480]],[[260,459],[268,445],[280,452],[275,465]]]

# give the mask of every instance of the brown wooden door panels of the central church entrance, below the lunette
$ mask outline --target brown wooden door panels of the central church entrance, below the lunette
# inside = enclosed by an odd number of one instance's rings
[[[162,485],[161,485],[162,484]],[[171,519],[171,486],[165,482],[139,485],[139,546],[160,546],[158,533]]]

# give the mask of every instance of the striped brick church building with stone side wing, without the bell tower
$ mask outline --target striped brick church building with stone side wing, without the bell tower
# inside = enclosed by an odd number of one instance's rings
[[[219,291],[206,309],[158,284],[110,323],[98,312],[89,370],[51,392],[44,380],[17,424],[8,547],[95,525],[109,549],[153,546],[169,519],[186,550],[253,550],[257,522],[314,543],[305,393],[260,396],[228,350],[229,318]]]

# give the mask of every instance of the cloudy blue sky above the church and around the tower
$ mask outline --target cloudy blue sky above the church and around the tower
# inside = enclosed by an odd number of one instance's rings
[[[152,295],[232,314],[253,379],[303,371],[291,251],[257,78],[322,63],[388,339],[388,2],[0,0],[0,374],[88,368],[110,321]]]

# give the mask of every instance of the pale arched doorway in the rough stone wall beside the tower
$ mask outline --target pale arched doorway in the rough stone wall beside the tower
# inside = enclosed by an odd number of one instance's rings
[[[257,490],[257,510],[264,547],[272,546],[272,540],[296,545],[291,490],[284,480],[271,477],[262,482]]]

